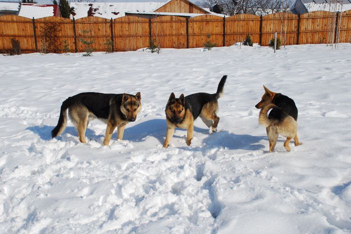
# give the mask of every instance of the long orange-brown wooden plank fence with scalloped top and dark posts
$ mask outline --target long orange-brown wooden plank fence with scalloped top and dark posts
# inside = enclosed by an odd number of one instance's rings
[[[337,14],[339,42],[351,42],[351,10]],[[136,50],[147,47],[150,38],[156,39],[161,48],[204,47],[209,39],[217,46],[228,46],[243,41],[247,34],[252,36],[253,42],[265,46],[275,31],[285,44],[327,43],[330,42],[328,36],[336,35],[336,28],[330,27],[334,15],[333,12],[314,11],[302,15],[238,14],[225,18],[216,15],[192,18],[124,16],[116,19],[88,16],[76,20],[56,16],[29,19],[4,15],[0,16],[0,52],[11,50],[11,38],[20,41],[22,52],[42,51],[41,29],[48,22],[60,25],[59,46],[63,47],[63,41],[66,41],[71,52],[84,51],[81,38],[94,39],[95,51],[106,51],[107,40],[112,41],[113,51]]]

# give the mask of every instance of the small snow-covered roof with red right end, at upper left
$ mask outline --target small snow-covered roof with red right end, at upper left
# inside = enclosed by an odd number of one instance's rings
[[[27,18],[43,18],[54,16],[57,5],[22,3],[18,15]]]

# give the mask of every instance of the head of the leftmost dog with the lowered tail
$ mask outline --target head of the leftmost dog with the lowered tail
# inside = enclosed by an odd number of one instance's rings
[[[121,102],[121,112],[126,116],[130,122],[135,121],[136,115],[141,110],[141,94],[135,95],[123,93]]]

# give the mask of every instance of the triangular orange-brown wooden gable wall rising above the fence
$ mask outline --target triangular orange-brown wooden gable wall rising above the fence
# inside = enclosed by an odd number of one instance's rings
[[[162,5],[156,12],[179,12],[179,13],[209,13],[203,8],[195,5],[188,0],[171,0],[168,3]]]

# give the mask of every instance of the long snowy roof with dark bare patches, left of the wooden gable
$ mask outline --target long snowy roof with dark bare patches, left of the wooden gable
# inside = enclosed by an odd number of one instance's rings
[[[74,18],[99,16],[118,18],[125,16],[126,11],[152,12],[166,2],[70,2],[74,7]],[[72,16],[71,16],[72,18]]]

